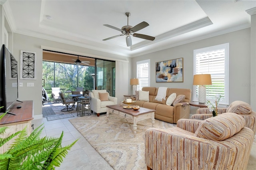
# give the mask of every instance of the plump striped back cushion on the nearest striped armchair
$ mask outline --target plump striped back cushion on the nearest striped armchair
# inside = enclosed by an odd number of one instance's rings
[[[222,113],[202,121],[194,136],[222,141],[238,133],[244,125],[245,120],[242,116],[235,113]]]

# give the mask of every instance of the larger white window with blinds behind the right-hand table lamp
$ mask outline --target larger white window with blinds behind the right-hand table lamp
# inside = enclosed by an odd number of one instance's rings
[[[194,75],[210,74],[212,85],[206,85],[206,100],[222,95],[220,104],[228,105],[229,43],[194,50]],[[193,89],[193,101],[198,101],[198,85]]]

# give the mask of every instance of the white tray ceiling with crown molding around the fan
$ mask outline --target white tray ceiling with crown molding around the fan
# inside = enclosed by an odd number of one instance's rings
[[[249,28],[246,10],[256,0],[7,0],[4,9],[15,33],[134,57],[183,43]],[[107,41],[122,28],[142,21],[149,26],[138,34],[154,41],[125,36]],[[51,16],[52,20],[46,18]]]

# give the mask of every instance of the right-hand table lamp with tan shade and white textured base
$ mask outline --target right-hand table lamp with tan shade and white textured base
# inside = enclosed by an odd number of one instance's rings
[[[206,87],[204,85],[212,85],[212,78],[210,74],[196,74],[194,75],[193,85],[198,87],[198,102],[206,103]]]

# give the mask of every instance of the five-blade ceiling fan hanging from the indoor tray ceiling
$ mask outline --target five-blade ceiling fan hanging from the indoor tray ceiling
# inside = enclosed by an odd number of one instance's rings
[[[131,15],[131,13],[130,12],[126,12],[125,15],[127,16],[127,26],[123,26],[121,29],[116,28],[114,26],[110,26],[108,24],[104,24],[104,26],[112,28],[112,29],[115,29],[115,30],[118,30],[122,34],[117,35],[117,36],[113,36],[113,37],[110,37],[110,38],[106,38],[103,41],[110,40],[112,38],[116,38],[116,37],[120,37],[120,36],[124,36],[125,35],[126,36],[126,44],[129,47],[129,46],[132,45],[131,35],[134,36],[134,37],[145,39],[145,40],[151,40],[151,41],[155,40],[155,37],[147,36],[147,35],[144,35],[144,34],[136,34],[136,33],[134,33],[134,32],[137,32],[137,31],[139,31],[139,30],[149,26],[149,24],[147,22],[143,21],[140,24],[132,27],[132,26],[129,26],[129,16]]]

